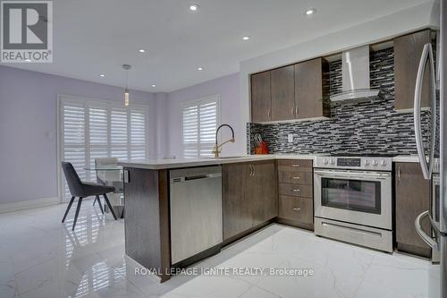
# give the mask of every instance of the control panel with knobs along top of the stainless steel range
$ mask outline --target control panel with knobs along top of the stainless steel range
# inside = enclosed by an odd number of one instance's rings
[[[314,167],[392,171],[392,158],[316,157]]]

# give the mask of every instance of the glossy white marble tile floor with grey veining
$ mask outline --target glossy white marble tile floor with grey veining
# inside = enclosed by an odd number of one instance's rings
[[[194,268],[309,268],[280,275],[136,276],[124,223],[86,200],[74,232],[65,205],[0,214],[0,297],[426,297],[426,260],[370,251],[273,225]]]

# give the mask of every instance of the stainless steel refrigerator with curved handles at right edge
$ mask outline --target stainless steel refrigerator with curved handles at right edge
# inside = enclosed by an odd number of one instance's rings
[[[443,63],[447,43],[447,0],[441,0],[438,6],[434,6],[434,13],[437,11],[440,17],[437,46],[434,48],[432,44],[425,45],[415,89],[417,154],[424,177],[432,185],[430,209],[416,218],[415,228],[433,251],[434,265],[429,272],[429,297],[447,298],[447,94],[443,80],[447,73]],[[431,104],[429,111],[423,111],[421,115],[421,92],[426,72],[430,73]],[[429,117],[429,123],[421,121],[426,120],[426,117]],[[429,126],[426,130],[428,135],[423,135],[422,123]],[[432,226],[432,234],[426,234],[421,228],[421,223],[427,217]]]

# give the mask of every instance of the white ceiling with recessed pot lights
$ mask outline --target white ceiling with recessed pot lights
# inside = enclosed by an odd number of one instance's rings
[[[200,9],[192,13],[189,4]],[[8,64],[86,81],[173,91],[239,71],[240,61],[426,0],[56,0],[53,64]],[[303,11],[315,7],[308,17]],[[249,41],[242,37],[249,35]],[[139,54],[139,48],[148,50]],[[204,71],[198,72],[201,66]],[[99,74],[105,73],[105,78]],[[156,84],[156,88],[151,85]]]

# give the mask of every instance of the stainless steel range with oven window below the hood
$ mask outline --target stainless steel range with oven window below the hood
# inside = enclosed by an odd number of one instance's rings
[[[315,234],[392,252],[392,158],[317,157]]]

